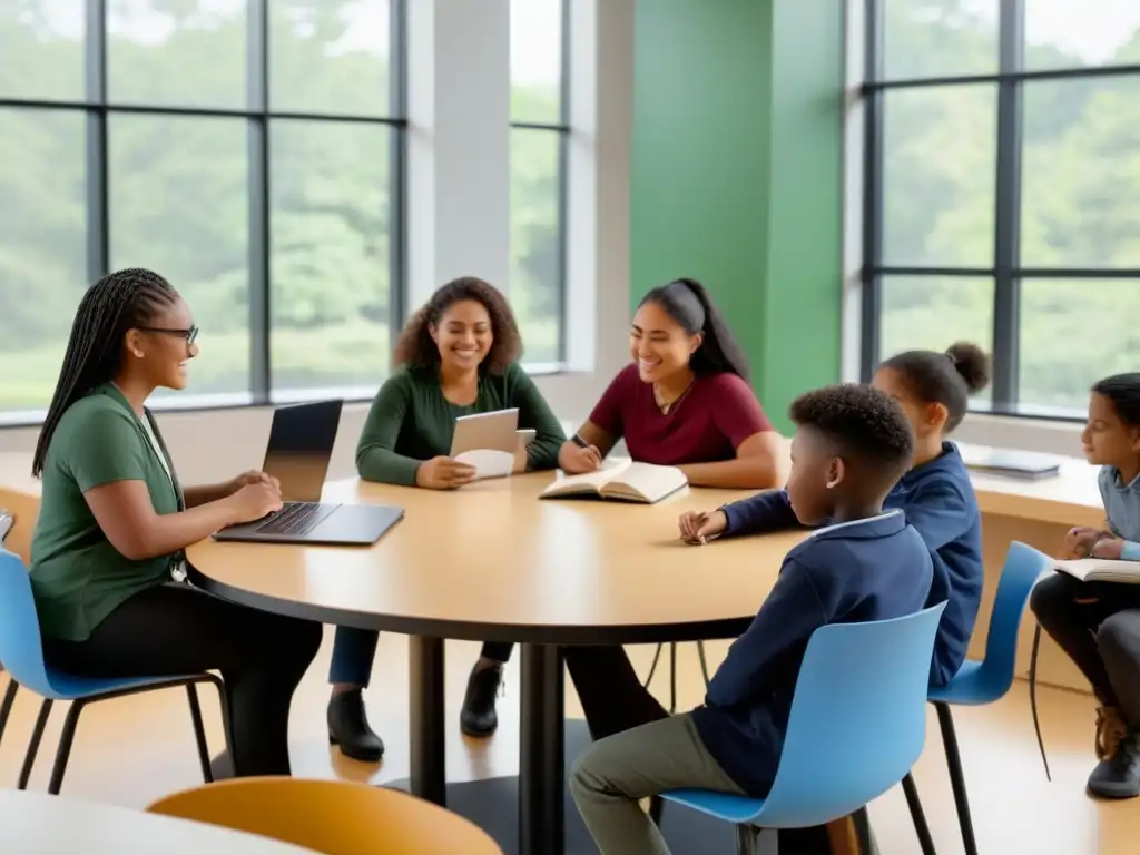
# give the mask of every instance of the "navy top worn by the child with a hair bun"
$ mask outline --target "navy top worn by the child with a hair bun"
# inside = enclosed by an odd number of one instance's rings
[[[930,549],[934,581],[926,606],[946,602],[930,662],[930,685],[945,685],[966,660],[984,576],[982,514],[958,447],[943,442],[942,454],[903,475],[882,506],[902,510]],[[799,524],[784,490],[760,492],[720,510],[728,520],[722,537]]]

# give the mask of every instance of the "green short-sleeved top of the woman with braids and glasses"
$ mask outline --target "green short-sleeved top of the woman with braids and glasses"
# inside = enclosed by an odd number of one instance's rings
[[[32,538],[32,592],[46,636],[85,641],[128,597],[170,581],[174,556],[124,557],[83,494],[113,481],[142,481],[155,513],[177,513],[180,496],[172,475],[114,385],[98,386],[67,408],[48,446]]]

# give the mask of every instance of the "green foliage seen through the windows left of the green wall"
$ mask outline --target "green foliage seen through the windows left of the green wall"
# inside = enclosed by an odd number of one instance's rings
[[[243,0],[109,0],[114,105],[245,109]],[[376,386],[389,367],[390,154],[399,131],[329,114],[390,114],[388,0],[274,0],[268,122],[275,389]],[[0,2],[0,97],[84,101],[82,3]],[[555,98],[553,107],[547,103]],[[557,113],[556,92],[515,88],[516,112]],[[150,267],[203,329],[194,391],[250,386],[251,230],[260,198],[237,116],[112,111],[111,267]],[[47,405],[89,283],[85,111],[0,107],[0,410]],[[512,139],[512,300],[528,357],[557,356],[559,135]],[[252,220],[251,220],[251,214]],[[504,283],[505,285],[505,283]]]

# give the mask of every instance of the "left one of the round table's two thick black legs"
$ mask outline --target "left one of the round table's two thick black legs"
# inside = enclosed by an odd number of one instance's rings
[[[447,742],[443,730],[443,640],[408,638],[410,790],[447,804]]]

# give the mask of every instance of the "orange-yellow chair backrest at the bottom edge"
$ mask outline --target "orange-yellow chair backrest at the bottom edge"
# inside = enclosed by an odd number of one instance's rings
[[[503,855],[474,823],[406,792],[348,781],[242,777],[176,792],[147,811],[327,855]]]

